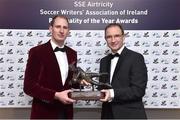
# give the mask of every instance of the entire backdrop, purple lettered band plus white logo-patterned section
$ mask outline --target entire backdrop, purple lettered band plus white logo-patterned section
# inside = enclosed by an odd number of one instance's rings
[[[0,107],[31,106],[32,98],[23,92],[28,51],[50,39],[48,22],[63,14],[70,18],[66,44],[77,50],[78,66],[99,72],[100,59],[110,52],[103,29],[111,22],[122,23],[125,45],[143,54],[148,67],[145,107],[180,108],[179,5],[178,0],[1,0]],[[101,107],[101,102],[78,101],[75,107]]]

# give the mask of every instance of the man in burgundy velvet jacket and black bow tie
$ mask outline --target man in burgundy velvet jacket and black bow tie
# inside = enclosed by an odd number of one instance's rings
[[[24,92],[33,97],[31,119],[72,119],[73,103],[69,81],[77,53],[64,45],[69,34],[68,19],[55,16],[50,23],[51,40],[29,51]]]

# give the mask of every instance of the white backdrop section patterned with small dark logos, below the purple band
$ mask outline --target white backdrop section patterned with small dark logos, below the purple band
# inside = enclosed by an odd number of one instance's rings
[[[127,30],[125,45],[143,54],[148,84],[146,108],[180,108],[180,30]],[[0,108],[30,107],[23,92],[28,50],[50,39],[48,30],[0,29]],[[72,30],[67,45],[78,52],[78,66],[98,72],[109,50],[102,30]],[[100,107],[99,101],[78,101],[75,107]]]

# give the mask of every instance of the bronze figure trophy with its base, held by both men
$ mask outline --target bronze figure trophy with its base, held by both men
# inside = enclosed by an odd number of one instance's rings
[[[107,73],[86,73],[82,68],[75,67],[74,65],[69,66],[70,70],[73,71],[73,79],[70,84],[79,83],[80,85],[91,85],[91,91],[82,91],[81,87],[78,91],[73,91],[69,94],[72,99],[75,100],[100,100],[105,97],[105,93],[95,90],[94,86],[103,87],[110,89],[112,88],[108,83],[101,83],[93,80],[93,78],[99,78],[107,76]]]

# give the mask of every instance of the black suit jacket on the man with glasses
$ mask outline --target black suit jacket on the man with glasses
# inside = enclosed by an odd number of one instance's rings
[[[110,75],[110,65],[110,55],[102,58],[100,72]],[[101,78],[100,81],[109,83],[110,77]],[[102,118],[108,116],[109,110],[116,119],[146,118],[142,102],[146,84],[147,68],[143,56],[125,47],[117,62],[111,82],[115,96],[112,102],[103,103]]]

